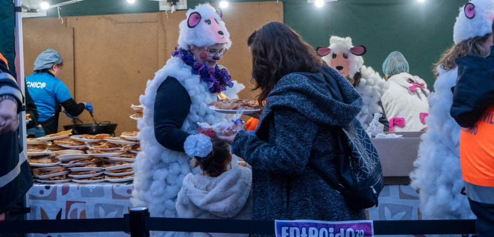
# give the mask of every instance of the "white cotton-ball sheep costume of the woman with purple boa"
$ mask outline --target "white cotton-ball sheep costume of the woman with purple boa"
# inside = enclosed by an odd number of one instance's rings
[[[192,28],[187,24],[189,17],[200,14]],[[229,39],[225,23],[221,20],[221,11],[204,4],[199,5],[186,13],[187,20],[180,23],[180,36],[178,47],[188,49],[189,45],[204,47],[216,44],[217,37],[211,33],[220,29],[227,42],[224,47],[229,48]],[[204,19],[211,20],[206,25]],[[215,21],[216,20],[216,21]],[[216,26],[213,26],[218,22]],[[212,29],[212,30],[211,30]],[[216,37],[216,38],[215,38]],[[223,39],[223,38],[222,38]],[[190,97],[190,110],[181,127],[181,130],[196,134],[198,130],[197,122],[207,122],[214,124],[221,121],[228,121],[229,115],[216,113],[208,109],[210,102],[217,100],[216,94],[208,92],[207,84],[201,82],[200,76],[192,73],[192,67],[185,64],[179,57],[171,57],[165,66],[156,72],[153,80],[148,81],[145,95],[139,98],[144,105],[143,118],[137,122],[139,129],[138,137],[142,152],[139,152],[132,168],[134,174],[134,190],[132,191],[132,206],[149,207],[151,216],[156,217],[178,217],[175,210],[175,201],[180,191],[184,177],[191,173],[189,161],[191,157],[185,152],[173,151],[163,147],[155,138],[154,134],[154,105],[157,89],[165,81],[167,76],[172,76],[180,82],[186,89]],[[238,98],[237,93],[244,89],[242,84],[233,82],[233,88],[228,88],[225,94],[230,98]],[[156,232],[154,236],[163,236],[164,232]],[[190,233],[167,232],[166,236],[189,236]]]

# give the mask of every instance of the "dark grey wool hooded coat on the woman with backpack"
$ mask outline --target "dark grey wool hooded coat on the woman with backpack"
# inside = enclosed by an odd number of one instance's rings
[[[343,102],[332,99],[330,88],[340,91]],[[279,80],[255,134],[240,131],[233,141],[233,152],[252,166],[253,219],[365,219],[364,210],[348,209],[343,197],[307,167],[309,159],[324,160],[324,169],[337,179],[334,131],[354,119],[361,106],[357,91],[330,67]]]

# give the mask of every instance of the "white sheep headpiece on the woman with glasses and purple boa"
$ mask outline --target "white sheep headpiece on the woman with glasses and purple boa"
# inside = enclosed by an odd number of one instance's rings
[[[209,4],[198,5],[187,11],[187,19],[179,25],[178,47],[189,50],[190,45],[207,47],[222,43],[223,47],[230,48],[230,33],[222,17],[221,8],[214,9]]]

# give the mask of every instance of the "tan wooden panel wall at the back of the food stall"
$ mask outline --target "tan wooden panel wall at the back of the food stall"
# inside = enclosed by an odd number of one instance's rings
[[[36,46],[38,48],[52,47],[59,41],[73,42],[74,67],[68,69],[65,52],[60,52],[64,58],[60,79],[67,81],[69,77],[64,78],[63,73],[71,70],[74,78],[74,91],[71,93],[74,92],[76,101],[91,102],[98,122],[109,120],[117,123],[118,135],[122,131],[136,130],[136,122],[129,118],[133,114],[129,106],[139,104],[138,97],[144,94],[146,82],[170,58],[177,45],[178,24],[184,19],[184,11],[168,13],[168,16],[159,12],[67,17],[64,21],[66,28],[73,29],[73,40],[57,37],[56,33],[53,37],[38,37],[42,39],[42,44],[35,37],[25,36],[24,40],[25,44],[39,44]],[[233,80],[246,86],[240,97],[254,99],[255,94],[250,91],[252,62],[247,37],[267,22],[283,22],[283,3],[231,3],[224,10],[223,20],[233,44],[219,63],[229,69]],[[25,19],[24,22],[25,35],[44,28],[60,28],[60,22],[53,18]],[[32,51],[35,58],[37,54]],[[66,55],[68,57],[69,54]],[[34,58],[26,57],[25,64],[32,66]],[[92,121],[87,112],[79,117],[86,123]],[[60,123],[68,124],[65,121]]]

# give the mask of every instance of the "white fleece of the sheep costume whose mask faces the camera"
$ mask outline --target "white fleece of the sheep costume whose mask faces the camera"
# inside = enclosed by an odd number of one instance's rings
[[[364,51],[355,51],[357,47],[363,47]],[[321,53],[321,48],[328,50]],[[329,39],[329,47],[318,47],[319,55],[325,56],[322,59],[331,66],[331,60],[333,54],[345,53],[349,60],[348,76],[354,77],[357,72],[362,73],[360,84],[355,88],[357,92],[362,96],[362,109],[357,115],[357,120],[362,126],[367,129],[369,123],[374,118],[375,113],[383,113],[381,106],[378,102],[381,96],[384,94],[386,82],[372,67],[364,66],[364,58],[361,56],[365,54],[366,49],[364,46],[356,46],[351,42],[350,37],[341,38],[338,36],[331,36]],[[332,66],[333,67],[333,66]],[[334,67],[333,67],[334,68]],[[336,68],[335,68],[336,69]]]

